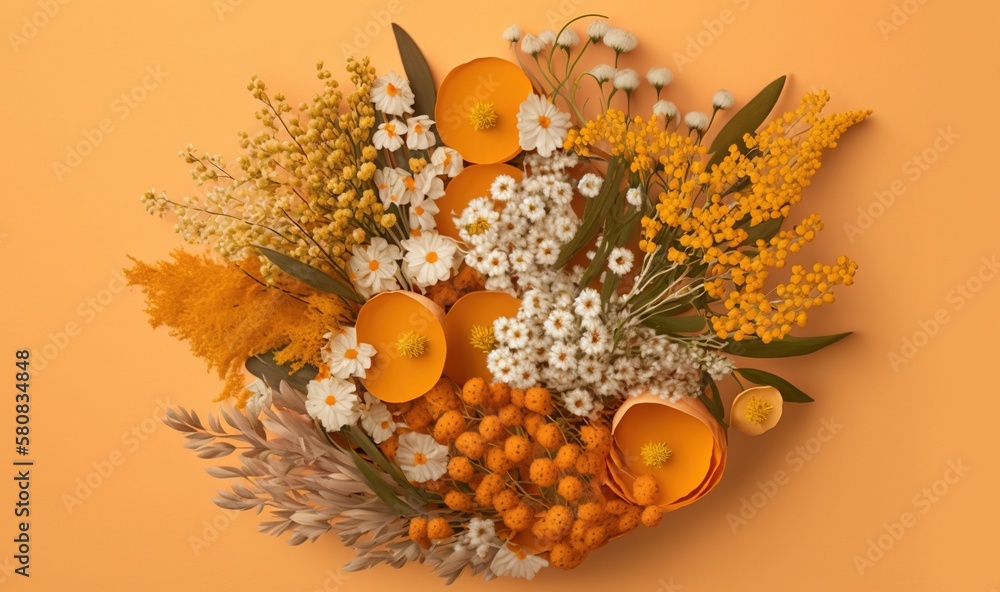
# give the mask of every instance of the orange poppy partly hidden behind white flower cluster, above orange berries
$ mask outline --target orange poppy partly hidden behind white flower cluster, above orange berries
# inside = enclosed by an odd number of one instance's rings
[[[448,340],[445,376],[458,384],[476,376],[490,376],[486,355],[496,341],[493,321],[515,316],[520,306],[520,300],[505,292],[472,292],[460,298],[444,320]]]

